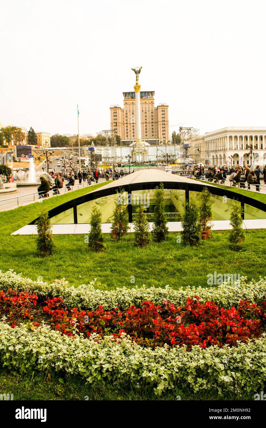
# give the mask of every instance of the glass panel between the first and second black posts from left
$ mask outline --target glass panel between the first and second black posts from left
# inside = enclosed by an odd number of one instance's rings
[[[77,205],[78,223],[90,223],[91,211],[94,206],[102,213],[102,223],[112,223],[116,198],[117,194],[115,193],[114,195],[102,196],[102,198]],[[123,193],[123,203],[127,204],[127,192]]]

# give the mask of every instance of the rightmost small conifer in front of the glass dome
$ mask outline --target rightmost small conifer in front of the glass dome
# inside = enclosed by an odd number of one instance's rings
[[[232,229],[229,232],[229,242],[232,244],[232,250],[238,251],[245,239],[245,233],[242,227],[243,224],[243,208],[238,201],[232,202],[232,210],[230,214],[230,225]]]

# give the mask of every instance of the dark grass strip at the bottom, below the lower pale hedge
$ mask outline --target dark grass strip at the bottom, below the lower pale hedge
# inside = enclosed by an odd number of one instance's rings
[[[242,398],[227,393],[221,398],[216,392],[193,392],[188,388],[155,395],[148,386],[140,390],[133,386],[131,389],[105,384],[91,386],[80,377],[49,373],[30,376],[3,369],[0,370],[0,392],[13,394],[14,400],[254,400],[253,393]]]

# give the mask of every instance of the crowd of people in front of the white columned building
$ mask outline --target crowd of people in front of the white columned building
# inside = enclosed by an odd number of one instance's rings
[[[251,189],[251,185],[256,186],[256,190],[260,191],[260,175],[263,175],[264,184],[266,184],[266,165],[263,170],[260,169],[260,165],[256,165],[254,169],[249,166],[232,166],[231,168],[226,166],[195,166],[192,172],[195,178],[203,181],[213,181],[214,183],[225,184],[225,180],[228,177],[230,185],[239,186]]]

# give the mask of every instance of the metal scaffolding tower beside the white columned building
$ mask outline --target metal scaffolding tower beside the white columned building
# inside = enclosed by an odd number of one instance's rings
[[[199,129],[196,128],[179,128],[180,135],[180,158],[182,169],[185,172],[187,166],[193,163],[199,163],[200,155],[200,140]]]

